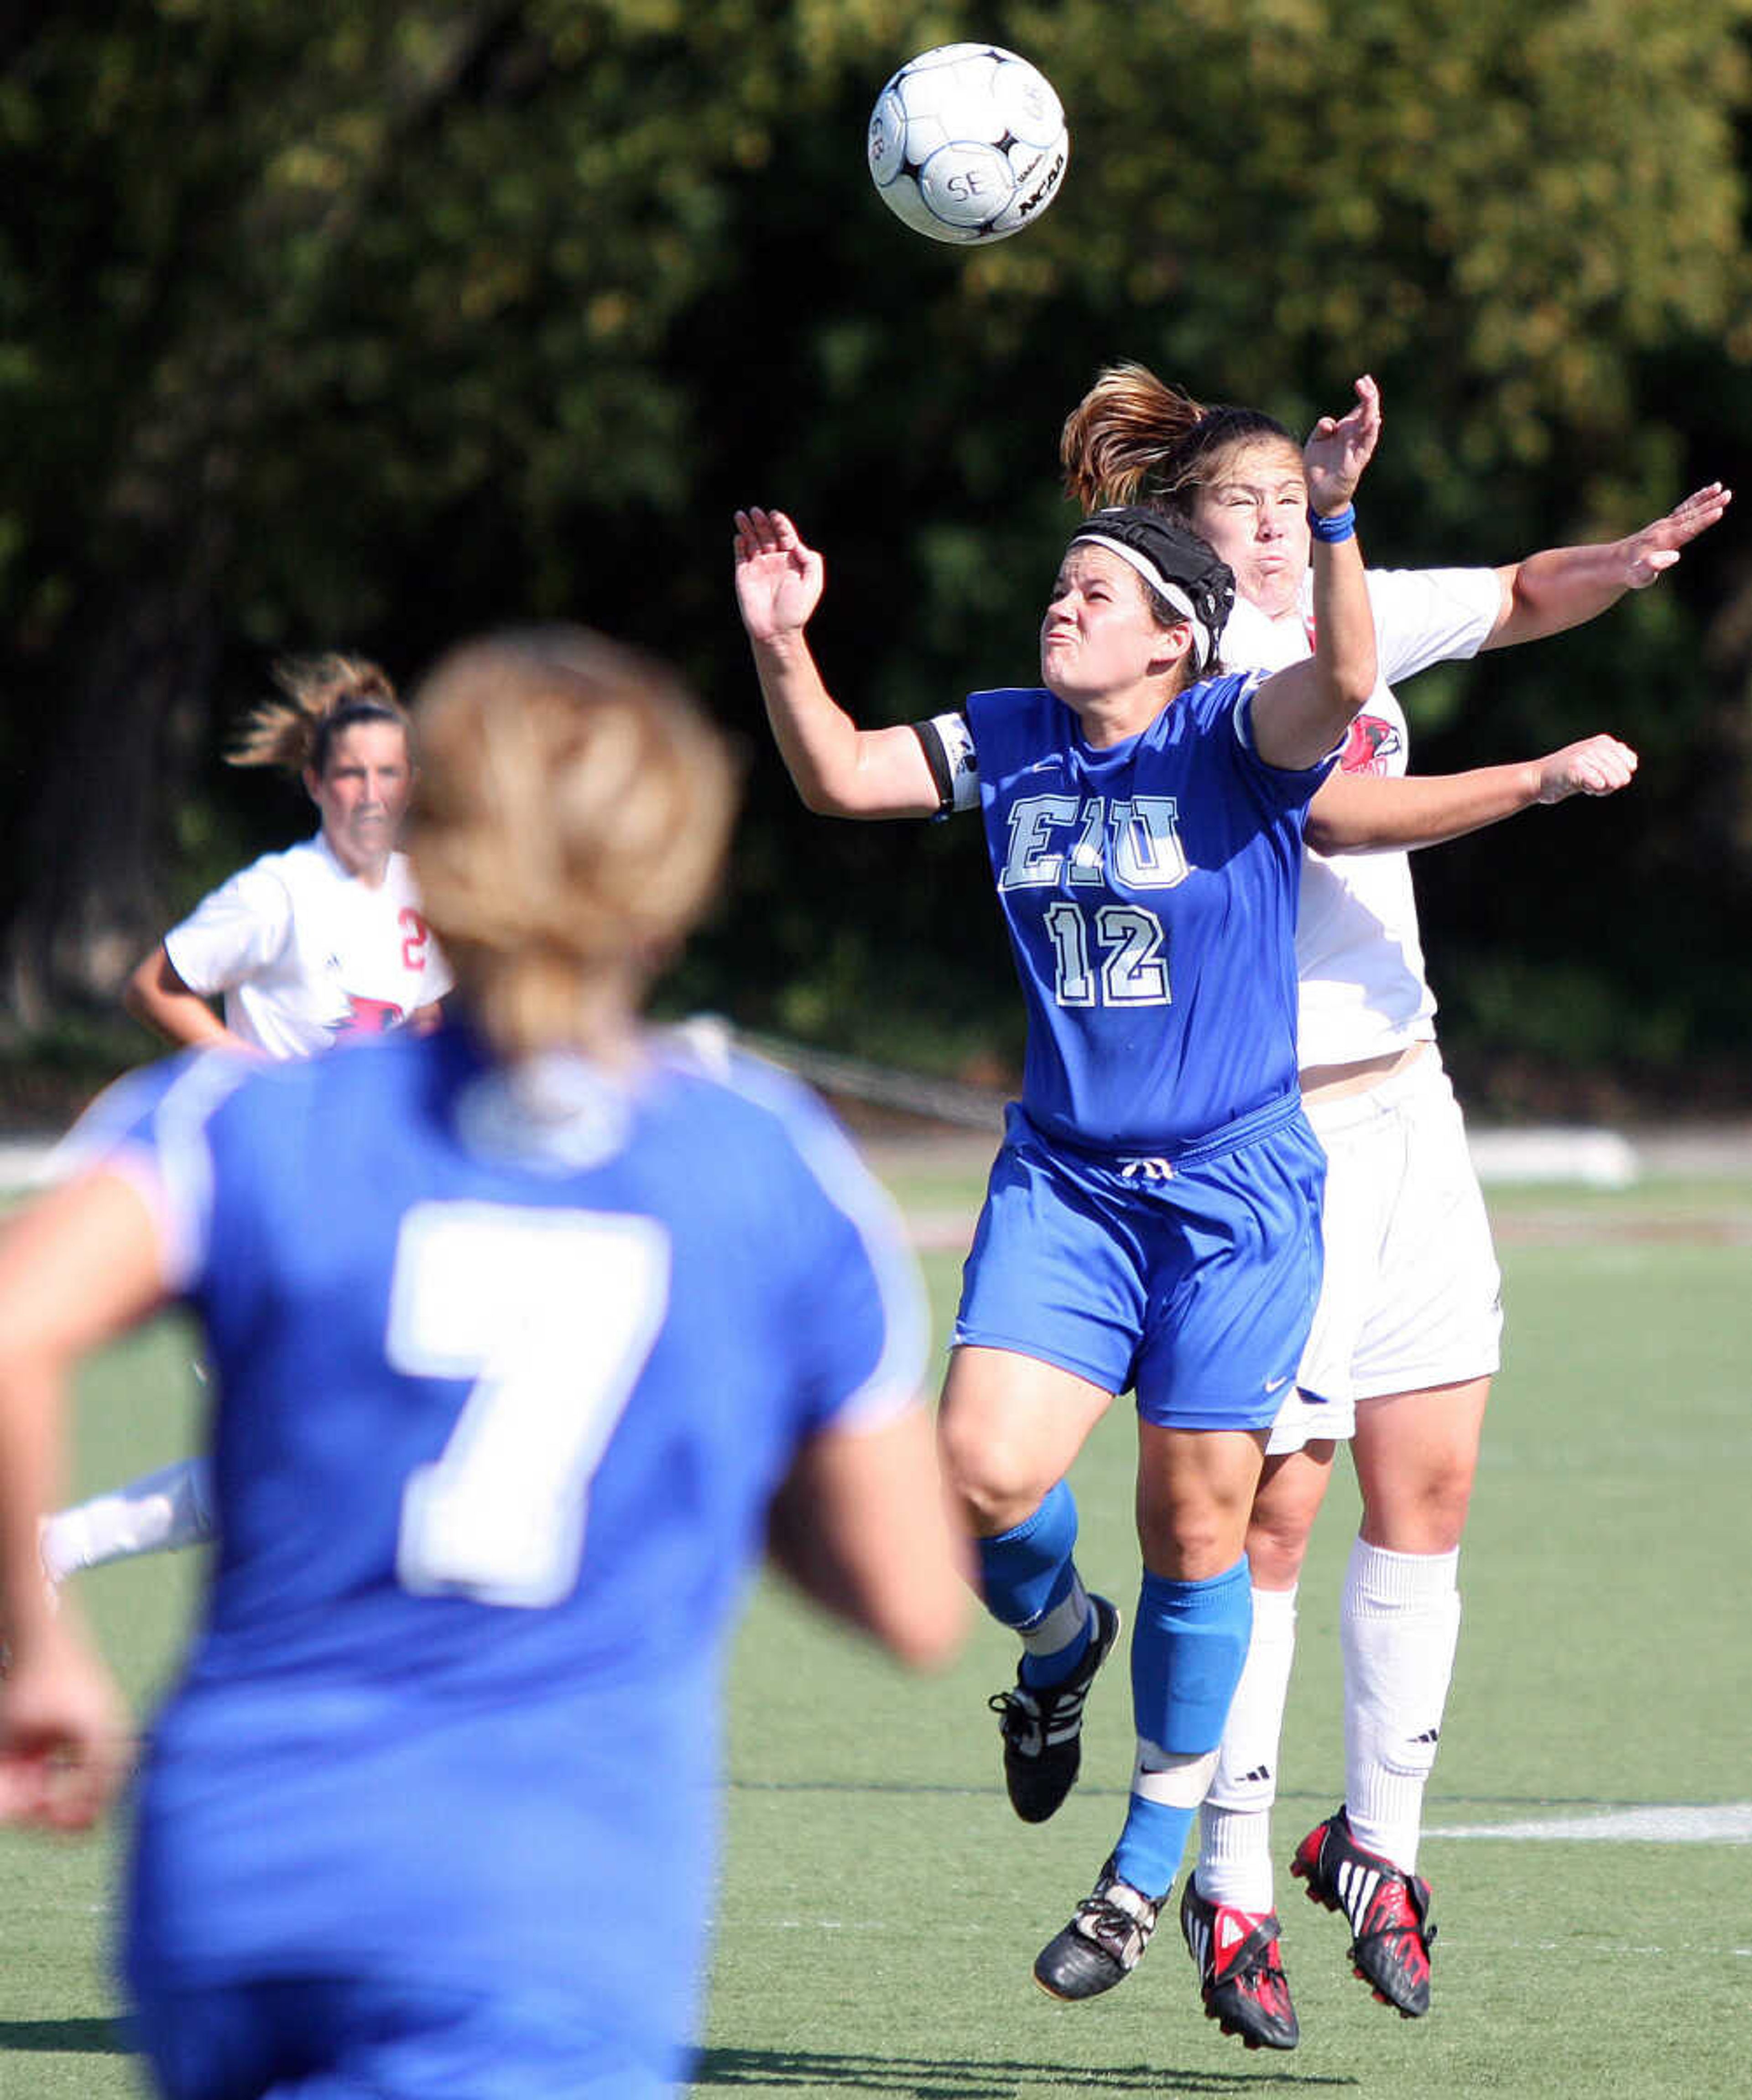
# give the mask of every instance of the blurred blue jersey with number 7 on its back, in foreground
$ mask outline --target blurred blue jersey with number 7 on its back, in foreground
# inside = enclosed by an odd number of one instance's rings
[[[445,1029],[120,1109],[208,1334],[221,1529],[137,1991],[504,1984],[685,2043],[769,1495],[918,1392],[882,1195],[790,1082],[681,1048],[609,1086]]]

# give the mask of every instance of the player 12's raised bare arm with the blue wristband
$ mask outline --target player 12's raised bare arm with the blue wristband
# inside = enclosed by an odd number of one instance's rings
[[[1321,416],[1302,447],[1309,508],[1319,519],[1347,517],[1378,439],[1380,391],[1363,376],[1355,407],[1347,416]],[[1353,531],[1342,540],[1315,531],[1313,617],[1315,653],[1275,672],[1254,693],[1254,743],[1273,766],[1319,764],[1374,691],[1374,613]]]

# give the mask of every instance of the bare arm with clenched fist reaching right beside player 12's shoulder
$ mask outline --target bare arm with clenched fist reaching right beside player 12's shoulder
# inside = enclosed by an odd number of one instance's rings
[[[1636,752],[1618,737],[1584,737],[1515,766],[1471,773],[1407,773],[1376,779],[1334,773],[1309,802],[1307,842],[1317,853],[1389,853],[1439,846],[1573,794],[1618,794],[1636,773]]]

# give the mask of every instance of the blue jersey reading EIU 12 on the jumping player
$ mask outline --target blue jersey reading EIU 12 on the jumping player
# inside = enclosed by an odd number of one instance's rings
[[[1296,884],[1330,762],[1256,754],[1256,685],[1195,685],[1109,750],[1042,689],[966,701],[1021,1100],[1055,1140],[1172,1153],[1296,1090]]]

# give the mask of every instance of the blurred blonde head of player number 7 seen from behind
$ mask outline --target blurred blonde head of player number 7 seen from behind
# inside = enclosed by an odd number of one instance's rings
[[[592,1048],[706,909],[737,779],[674,672],[584,628],[462,643],[424,678],[408,853],[500,1056]]]

